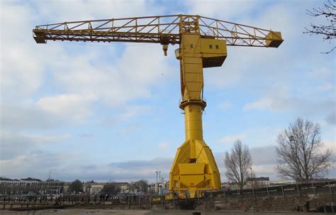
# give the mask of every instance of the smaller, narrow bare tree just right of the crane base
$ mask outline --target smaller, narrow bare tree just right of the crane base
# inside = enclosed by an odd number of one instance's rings
[[[252,158],[247,145],[243,145],[240,140],[236,140],[230,153],[225,153],[224,165],[225,175],[228,180],[236,182],[242,188],[250,176]]]

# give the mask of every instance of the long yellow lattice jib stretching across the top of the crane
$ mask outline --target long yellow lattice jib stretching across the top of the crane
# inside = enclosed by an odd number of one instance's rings
[[[192,15],[144,16],[74,21],[36,26],[36,43],[47,40],[83,42],[181,43],[181,33],[225,40],[227,45],[277,48],[281,33],[218,19]]]

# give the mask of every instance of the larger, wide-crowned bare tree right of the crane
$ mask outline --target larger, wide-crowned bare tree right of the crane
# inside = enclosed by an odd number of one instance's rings
[[[279,133],[276,142],[276,171],[282,177],[310,181],[325,175],[330,167],[332,153],[329,149],[323,151],[318,123],[297,118]]]

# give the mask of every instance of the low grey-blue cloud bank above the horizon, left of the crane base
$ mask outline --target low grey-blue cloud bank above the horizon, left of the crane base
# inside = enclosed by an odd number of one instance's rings
[[[168,179],[172,165],[170,158],[154,158],[151,160],[130,160],[126,162],[112,162],[103,164],[89,164],[87,161],[64,162],[72,157],[85,156],[81,153],[50,153],[39,151],[29,155],[21,155],[13,160],[0,160],[2,174],[10,178],[20,178],[23,175],[45,179],[47,172],[52,170],[52,178],[66,181],[95,180],[106,182],[131,182],[140,179],[154,182],[155,171],[162,172],[162,177]],[[43,160],[47,160],[43,162]],[[34,170],[31,170],[31,168]]]

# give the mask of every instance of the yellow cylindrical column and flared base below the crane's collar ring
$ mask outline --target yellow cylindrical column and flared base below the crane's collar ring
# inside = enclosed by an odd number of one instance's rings
[[[184,198],[194,198],[199,191],[220,189],[220,173],[211,149],[203,140],[202,106],[184,107],[186,141],[177,149],[169,174],[169,190]]]

